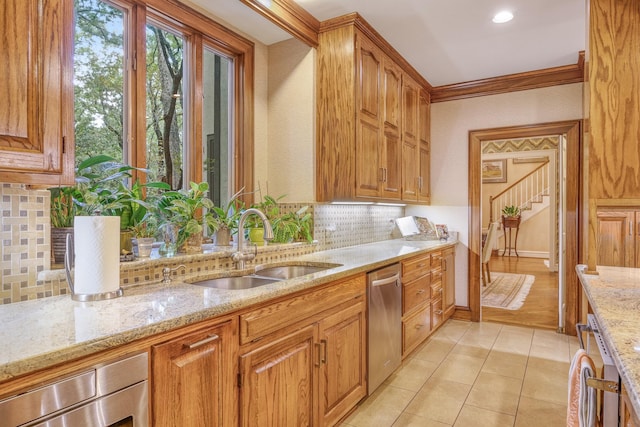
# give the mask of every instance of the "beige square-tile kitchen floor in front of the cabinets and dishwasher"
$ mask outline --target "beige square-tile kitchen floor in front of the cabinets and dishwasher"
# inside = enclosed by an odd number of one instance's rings
[[[342,427],[565,426],[577,350],[550,330],[450,320]]]

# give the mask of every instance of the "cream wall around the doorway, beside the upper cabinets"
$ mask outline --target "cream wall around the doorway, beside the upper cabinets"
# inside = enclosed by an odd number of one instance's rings
[[[431,206],[407,207],[458,231],[456,304],[467,306],[469,131],[582,118],[582,83],[435,103],[431,107]]]

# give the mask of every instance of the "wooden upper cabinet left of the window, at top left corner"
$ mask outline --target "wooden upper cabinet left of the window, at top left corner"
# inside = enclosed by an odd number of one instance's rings
[[[5,2],[0,20],[0,181],[72,183],[73,2]]]

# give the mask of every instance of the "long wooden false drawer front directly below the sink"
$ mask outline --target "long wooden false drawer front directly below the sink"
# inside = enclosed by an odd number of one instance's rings
[[[240,344],[300,322],[358,295],[364,298],[365,292],[366,276],[363,274],[241,314]]]

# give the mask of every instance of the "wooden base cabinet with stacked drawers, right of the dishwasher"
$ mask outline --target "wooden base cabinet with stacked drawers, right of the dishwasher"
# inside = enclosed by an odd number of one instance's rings
[[[454,251],[450,247],[402,261],[402,357],[455,310]]]

